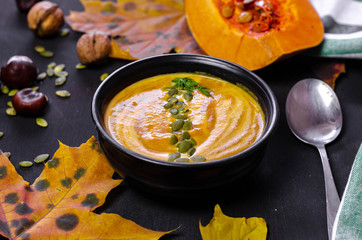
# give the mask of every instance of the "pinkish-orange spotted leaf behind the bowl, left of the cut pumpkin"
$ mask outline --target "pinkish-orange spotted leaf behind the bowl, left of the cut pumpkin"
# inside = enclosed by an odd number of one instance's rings
[[[84,12],[66,21],[75,31],[100,31],[112,38],[110,57],[135,60],[168,53],[203,53],[187,26],[181,0],[80,0]]]

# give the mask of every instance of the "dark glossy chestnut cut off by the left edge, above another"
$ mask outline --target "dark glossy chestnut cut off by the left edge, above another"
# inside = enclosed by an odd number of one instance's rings
[[[30,87],[38,76],[38,70],[27,56],[13,56],[1,67],[1,79],[9,88]]]

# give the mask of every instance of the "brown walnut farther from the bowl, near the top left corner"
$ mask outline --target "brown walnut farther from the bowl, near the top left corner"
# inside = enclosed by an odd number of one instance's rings
[[[63,22],[63,11],[52,2],[38,2],[28,13],[28,27],[39,37],[54,35],[63,25]]]

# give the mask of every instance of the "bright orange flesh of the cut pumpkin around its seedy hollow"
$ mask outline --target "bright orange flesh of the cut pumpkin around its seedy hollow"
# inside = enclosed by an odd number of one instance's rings
[[[263,68],[290,53],[317,46],[323,40],[322,21],[308,0],[269,0],[275,22],[266,31],[253,31],[234,15],[222,15],[222,6],[242,0],[186,0],[190,30],[208,55],[249,70]],[[255,2],[255,1],[254,1]]]

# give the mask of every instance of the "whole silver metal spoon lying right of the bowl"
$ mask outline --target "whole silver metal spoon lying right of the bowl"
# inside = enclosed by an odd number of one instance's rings
[[[332,142],[342,128],[342,111],[333,89],[317,79],[304,79],[290,90],[286,102],[288,125],[301,141],[317,147],[322,158],[327,205],[328,237],[340,199],[333,180],[325,145]]]

